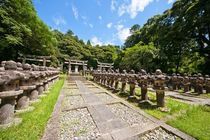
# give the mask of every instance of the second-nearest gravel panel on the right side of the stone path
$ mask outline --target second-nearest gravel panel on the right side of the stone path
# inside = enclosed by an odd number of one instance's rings
[[[141,127],[151,124],[152,122],[131,108],[123,104],[112,104],[108,105],[111,111],[120,119],[127,122],[129,125],[139,125]]]

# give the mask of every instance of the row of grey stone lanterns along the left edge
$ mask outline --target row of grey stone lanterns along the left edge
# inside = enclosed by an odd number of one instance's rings
[[[13,123],[16,110],[29,107],[59,77],[59,70],[3,61],[0,67],[0,126]]]

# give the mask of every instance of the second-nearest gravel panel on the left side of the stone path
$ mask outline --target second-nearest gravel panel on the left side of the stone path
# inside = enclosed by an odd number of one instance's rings
[[[64,108],[82,106],[82,104],[84,100],[81,96],[66,96],[63,102]]]

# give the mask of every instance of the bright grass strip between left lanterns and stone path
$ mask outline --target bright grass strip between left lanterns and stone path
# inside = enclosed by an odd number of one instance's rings
[[[53,111],[60,90],[63,86],[65,76],[57,81],[46,97],[41,102],[34,103],[32,112],[17,115],[22,118],[22,123],[4,130],[0,130],[0,139],[3,140],[37,140],[43,135],[45,126]]]

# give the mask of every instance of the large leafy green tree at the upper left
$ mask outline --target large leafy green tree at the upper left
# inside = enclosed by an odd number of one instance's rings
[[[0,2],[0,38],[1,60],[17,59],[19,53],[57,56],[56,39],[31,0]]]

